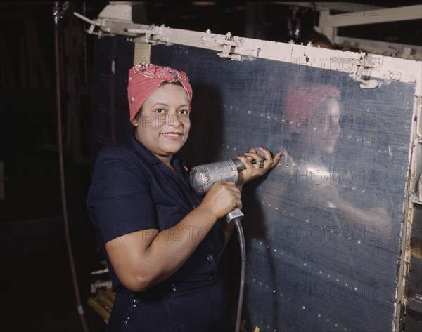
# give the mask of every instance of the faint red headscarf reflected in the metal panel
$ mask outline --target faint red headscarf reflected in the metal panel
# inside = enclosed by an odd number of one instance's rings
[[[298,119],[305,119],[312,114],[328,97],[339,98],[338,88],[314,83],[290,88],[286,100],[286,118],[292,120],[291,126],[288,126],[290,131],[294,131]]]

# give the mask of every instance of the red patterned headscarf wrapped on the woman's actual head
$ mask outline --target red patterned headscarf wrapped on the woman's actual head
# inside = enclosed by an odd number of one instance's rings
[[[192,103],[192,88],[185,72],[178,72],[170,67],[153,65],[142,62],[129,69],[129,84],[127,85],[127,99],[129,101],[130,121],[148,98],[162,82],[180,82]]]

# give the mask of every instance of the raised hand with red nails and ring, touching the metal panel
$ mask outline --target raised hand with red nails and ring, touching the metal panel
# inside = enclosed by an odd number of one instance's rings
[[[245,169],[238,173],[236,185],[242,186],[250,180],[259,178],[279,163],[281,152],[273,158],[269,150],[264,147],[259,147],[259,149],[261,150],[260,154],[264,154],[264,157],[257,154],[253,147],[250,148],[249,152],[245,152],[245,156],[237,156],[245,164]]]

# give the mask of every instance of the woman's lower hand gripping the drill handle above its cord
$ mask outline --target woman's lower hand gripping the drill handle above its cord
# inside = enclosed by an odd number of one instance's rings
[[[212,211],[217,220],[224,218],[236,206],[242,208],[241,190],[234,182],[216,182],[201,205]]]

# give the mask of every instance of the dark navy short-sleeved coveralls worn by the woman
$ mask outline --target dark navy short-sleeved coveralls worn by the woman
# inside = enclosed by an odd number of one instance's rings
[[[175,154],[172,163],[178,176],[134,135],[124,146],[103,148],[96,159],[87,208],[116,292],[108,331],[232,331],[226,291],[217,275],[224,248],[220,223],[177,272],[144,292],[124,288],[108,259],[108,241],[139,230],[167,230],[200,204],[184,159]],[[191,231],[176,227],[162,236],[177,239]]]

